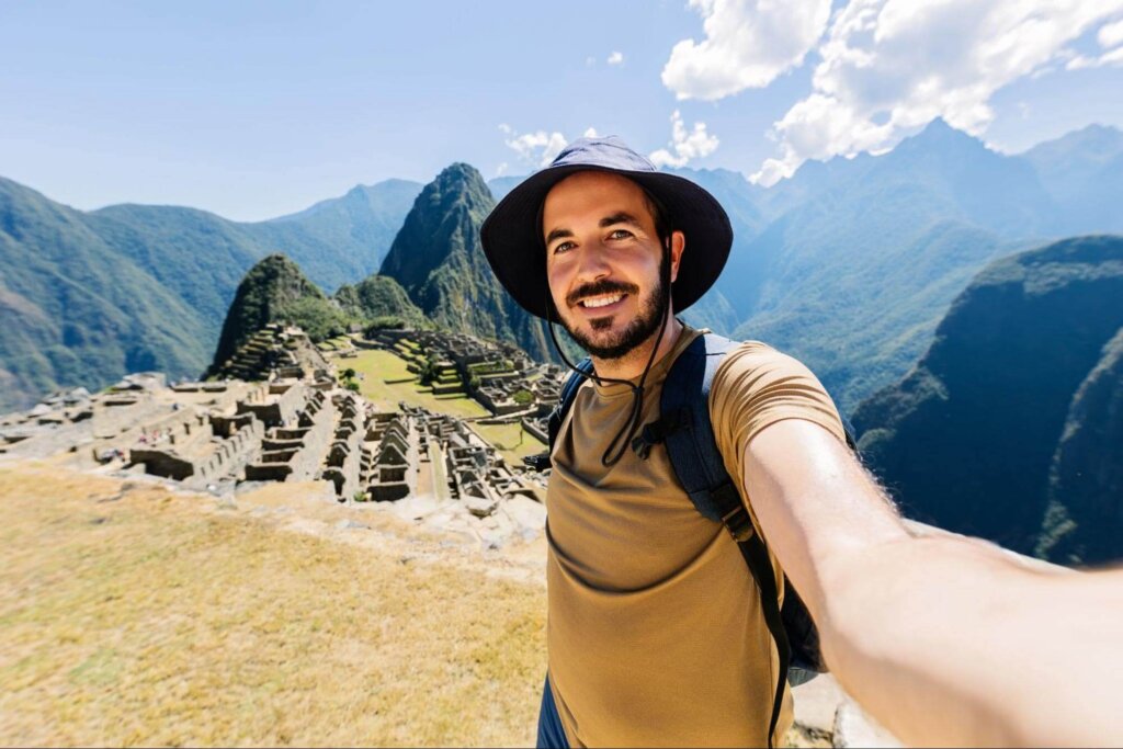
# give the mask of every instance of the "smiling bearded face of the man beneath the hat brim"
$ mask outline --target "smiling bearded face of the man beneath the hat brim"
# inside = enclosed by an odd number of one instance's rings
[[[664,249],[638,184],[604,172],[566,177],[546,197],[542,235],[554,305],[582,348],[619,359],[658,330],[669,289],[660,282]],[[683,246],[674,232],[672,281]]]

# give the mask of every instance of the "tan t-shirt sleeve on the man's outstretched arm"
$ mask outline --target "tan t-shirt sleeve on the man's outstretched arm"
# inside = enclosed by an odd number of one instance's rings
[[[785,419],[811,421],[846,441],[838,409],[803,363],[756,341],[725,356],[710,386],[710,420],[725,471],[738,486],[749,440]],[[749,512],[756,522],[751,503]]]

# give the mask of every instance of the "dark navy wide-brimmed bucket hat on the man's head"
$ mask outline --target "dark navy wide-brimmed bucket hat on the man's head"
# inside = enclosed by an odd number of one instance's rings
[[[659,172],[615,136],[574,140],[549,166],[519,183],[484,220],[480,228],[484,254],[508,293],[531,314],[557,319],[546,280],[540,210],[555,184],[588,171],[626,176],[661,203],[668,228],[686,236],[686,252],[672,286],[675,311],[696,302],[729,258],[733,244],[729,216],[709,192],[685,177]]]

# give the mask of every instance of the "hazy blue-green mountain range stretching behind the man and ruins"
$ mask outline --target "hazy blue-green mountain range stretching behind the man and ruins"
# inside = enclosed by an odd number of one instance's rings
[[[992,259],[1120,230],[1120,158],[1113,128],[1012,156],[938,120],[888,154],[809,162],[767,190],[679,170],[725,205],[736,236],[722,278],[685,317],[798,356],[852,411],[909,371]],[[485,184],[454,165],[424,195],[391,180],[256,223],[175,207],[76,211],[0,180],[0,410],[129,371],[198,376],[238,283],[274,253],[325,293],[343,291],[340,305],[382,270],[442,325],[547,356],[541,327],[510,307],[478,253],[478,222],[518,180]]]

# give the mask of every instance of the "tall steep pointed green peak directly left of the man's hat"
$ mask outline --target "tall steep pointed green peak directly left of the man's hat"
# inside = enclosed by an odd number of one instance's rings
[[[494,205],[480,173],[453,164],[418,195],[380,273],[398,281],[440,328],[553,358],[545,326],[514,303],[484,257],[480,225]]]

